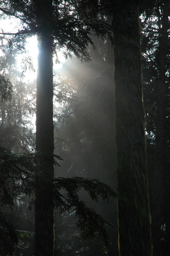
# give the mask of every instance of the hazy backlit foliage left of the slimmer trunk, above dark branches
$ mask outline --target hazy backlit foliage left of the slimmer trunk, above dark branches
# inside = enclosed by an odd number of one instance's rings
[[[26,84],[22,81],[21,72],[16,66],[18,49],[9,52],[7,46],[3,46],[4,54],[0,57],[0,82],[10,80],[10,90],[3,90],[3,98],[0,102],[0,143],[10,146],[15,151],[25,151],[34,148],[34,131],[32,117],[35,114],[35,84]],[[7,89],[7,86],[5,87]],[[1,87],[2,89],[2,87]],[[4,87],[3,87],[4,89]],[[9,87],[8,87],[9,89]],[[10,97],[7,97],[7,96]]]

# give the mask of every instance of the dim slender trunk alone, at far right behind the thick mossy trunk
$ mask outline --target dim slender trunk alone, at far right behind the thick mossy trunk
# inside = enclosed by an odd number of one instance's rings
[[[153,255],[161,256],[161,225],[163,224],[163,121],[166,119],[165,92],[166,92],[166,71],[167,71],[167,49],[168,49],[168,6],[169,1],[162,3],[163,15],[160,14],[160,6],[157,8],[159,20],[159,52],[158,52],[158,83],[157,83],[157,120],[155,123],[155,163],[154,177],[152,183],[152,240]]]

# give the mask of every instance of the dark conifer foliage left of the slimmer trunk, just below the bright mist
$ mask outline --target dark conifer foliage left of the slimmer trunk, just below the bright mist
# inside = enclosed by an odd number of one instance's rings
[[[12,206],[21,194],[32,195],[34,189],[34,154],[13,153],[0,146],[0,199]]]

